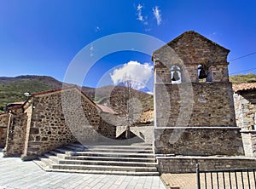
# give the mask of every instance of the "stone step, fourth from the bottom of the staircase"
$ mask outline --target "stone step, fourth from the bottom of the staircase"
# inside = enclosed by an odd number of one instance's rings
[[[122,158],[122,157],[101,157],[101,156],[66,156],[65,159],[73,160],[97,160],[97,161],[123,161],[123,162],[148,162],[154,163],[154,158]]]

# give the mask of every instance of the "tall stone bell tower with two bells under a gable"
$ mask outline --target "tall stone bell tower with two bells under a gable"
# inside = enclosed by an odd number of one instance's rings
[[[154,51],[156,154],[244,154],[229,81],[229,52],[195,31]]]

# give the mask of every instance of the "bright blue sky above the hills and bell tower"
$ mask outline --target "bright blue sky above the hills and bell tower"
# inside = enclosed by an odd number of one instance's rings
[[[167,43],[190,30],[230,49],[230,74],[256,73],[255,18],[253,0],[1,0],[0,76],[47,75],[63,81],[75,55],[101,37],[137,32]],[[247,54],[252,55],[234,60]],[[135,51],[108,54],[90,67],[84,85],[99,86],[114,70],[148,69],[150,58]]]

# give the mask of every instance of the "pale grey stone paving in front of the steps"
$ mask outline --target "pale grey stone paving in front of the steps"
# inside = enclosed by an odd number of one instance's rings
[[[0,150],[0,189],[3,188],[152,188],[165,189],[158,176],[119,176],[45,172],[36,163],[3,158]]]

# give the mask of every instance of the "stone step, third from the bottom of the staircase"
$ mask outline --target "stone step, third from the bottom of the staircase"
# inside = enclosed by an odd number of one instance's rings
[[[157,163],[148,162],[122,162],[122,161],[103,161],[103,160],[62,160],[54,158],[55,163],[60,164],[90,164],[90,165],[111,165],[111,166],[129,166],[129,167],[155,167]]]

